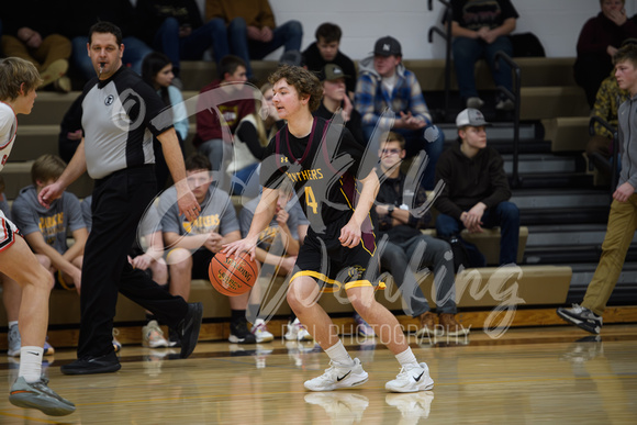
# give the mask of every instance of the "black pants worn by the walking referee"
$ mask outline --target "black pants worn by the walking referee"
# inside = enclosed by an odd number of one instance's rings
[[[155,193],[153,166],[128,168],[96,180],[93,223],[82,265],[78,358],[99,357],[113,350],[118,292],[171,327],[188,312],[181,297],[170,295],[127,260],[139,219]]]

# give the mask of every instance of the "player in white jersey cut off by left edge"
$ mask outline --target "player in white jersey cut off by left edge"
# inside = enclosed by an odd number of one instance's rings
[[[4,168],[15,141],[15,115],[31,113],[37,96],[35,89],[41,82],[31,63],[15,57],[0,60],[0,169]],[[51,275],[26,242],[16,235],[15,225],[0,211],[0,272],[22,287],[18,320],[22,336],[20,371],[9,401],[20,407],[38,409],[47,415],[68,415],[75,412],[75,405],[49,389],[48,380],[42,376]]]

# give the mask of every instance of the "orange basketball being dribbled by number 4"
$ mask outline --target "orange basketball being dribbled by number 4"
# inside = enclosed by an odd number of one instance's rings
[[[236,297],[248,292],[259,275],[259,264],[248,255],[216,253],[208,267],[210,283],[220,293]]]

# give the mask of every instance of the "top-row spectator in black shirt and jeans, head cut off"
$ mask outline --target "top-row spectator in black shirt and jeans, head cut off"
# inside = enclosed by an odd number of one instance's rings
[[[511,67],[500,60],[495,68],[495,53],[513,55],[511,40],[506,35],[515,30],[518,18],[511,0],[451,0],[451,35],[454,36],[454,65],[458,89],[466,108],[480,109],[484,101],[476,88],[476,63],[484,58],[495,86],[513,89]],[[502,93],[496,96],[495,109],[511,111],[515,103]]]

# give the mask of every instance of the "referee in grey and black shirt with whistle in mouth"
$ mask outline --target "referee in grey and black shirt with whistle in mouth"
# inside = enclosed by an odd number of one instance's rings
[[[85,171],[96,180],[93,223],[82,265],[78,358],[62,367],[65,374],[121,368],[112,345],[118,291],[178,333],[181,358],[190,356],[197,345],[203,313],[201,303],[188,304],[170,295],[126,257],[142,214],[156,193],[153,135],[161,143],[176,181],[179,212],[189,221],[199,215],[172,120],[153,121],[164,103],[137,74],[122,66],[124,45],[118,26],[110,22],[91,26],[87,47],[98,77],[82,92],[85,136],[60,178],[38,197],[48,206]]]

